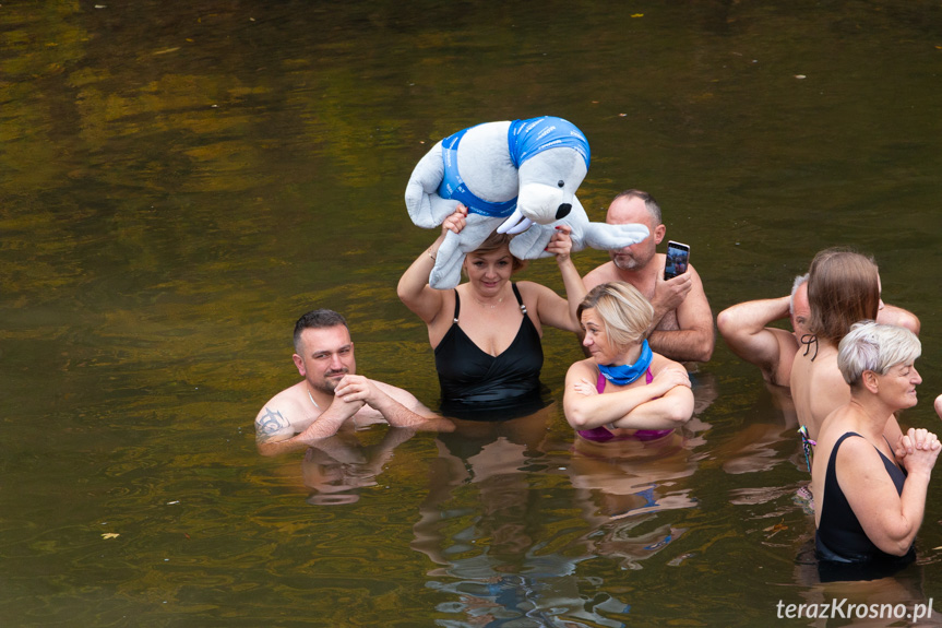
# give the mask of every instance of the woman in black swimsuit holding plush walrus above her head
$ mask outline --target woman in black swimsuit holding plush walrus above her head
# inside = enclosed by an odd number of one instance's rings
[[[585,295],[570,259],[569,227],[560,227],[546,249],[556,254],[569,300],[533,282],[512,283],[523,262],[511,256],[510,236],[500,234],[465,258],[466,283],[433,289],[428,282],[438,248],[448,230],[464,228],[466,215],[460,206],[445,218],[442,235],[403,274],[398,296],[428,325],[443,413],[473,411],[486,418],[491,410],[538,407],[542,327],[575,332],[575,308]]]

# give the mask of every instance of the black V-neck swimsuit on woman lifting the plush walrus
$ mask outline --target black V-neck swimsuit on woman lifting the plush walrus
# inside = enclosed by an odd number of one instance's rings
[[[534,398],[539,400],[542,345],[516,284],[511,284],[511,287],[523,320],[516,337],[498,356],[481,351],[458,327],[461,300],[455,291],[454,321],[434,351],[443,413],[461,416],[455,412],[505,407],[533,402]]]

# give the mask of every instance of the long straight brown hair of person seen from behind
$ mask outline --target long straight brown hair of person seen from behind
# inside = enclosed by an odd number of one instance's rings
[[[808,277],[811,333],[834,344],[880,309],[880,273],[871,258],[850,249],[825,249],[814,256]]]

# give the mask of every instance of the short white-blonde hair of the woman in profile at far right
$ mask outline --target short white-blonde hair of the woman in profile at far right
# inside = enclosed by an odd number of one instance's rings
[[[873,321],[854,323],[837,346],[837,368],[844,381],[860,384],[863,371],[886,375],[898,364],[910,365],[922,354],[922,343],[906,328]]]

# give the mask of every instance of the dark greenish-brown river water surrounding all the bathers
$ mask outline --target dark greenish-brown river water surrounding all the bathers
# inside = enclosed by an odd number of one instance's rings
[[[939,428],[939,2],[4,2],[0,624],[942,612],[938,478],[918,565],[821,585],[794,420],[722,341],[685,439],[623,459],[573,448],[559,402],[580,353],[552,330],[557,403],[533,417],[257,455],[312,307],[348,316],[361,372],[437,404],[394,291],[434,237],[406,180],[443,135],[545,114],[592,144],[594,220],[623,188],[658,197],[714,312],[785,294],[821,248],[873,253],[923,325],[904,423]],[[524,276],[561,288],[549,261]]]

